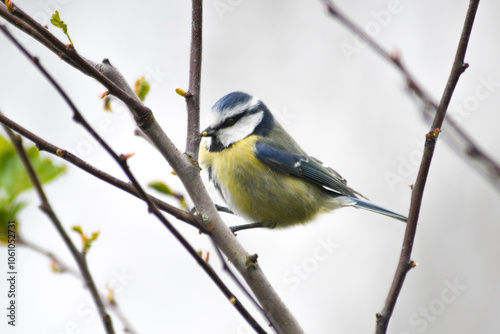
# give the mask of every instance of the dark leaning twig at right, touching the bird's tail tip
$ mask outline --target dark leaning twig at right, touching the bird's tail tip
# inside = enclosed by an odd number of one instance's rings
[[[413,250],[413,243],[415,240],[418,216],[420,214],[420,206],[422,204],[422,197],[424,195],[425,183],[427,181],[427,175],[429,174],[432,156],[434,154],[434,148],[436,146],[440,131],[439,129],[443,125],[443,121],[446,116],[446,110],[448,109],[451,97],[457,85],[458,79],[460,78],[460,75],[468,67],[468,65],[464,63],[465,52],[467,51],[467,45],[469,42],[472,25],[474,23],[478,5],[479,0],[471,0],[469,3],[469,9],[465,17],[465,23],[462,29],[462,35],[458,44],[453,67],[451,69],[448,82],[446,83],[446,88],[444,90],[443,96],[437,108],[436,116],[432,123],[431,130],[426,135],[424,155],[422,157],[417,180],[412,192],[410,214],[408,216],[408,223],[406,226],[406,232],[403,241],[403,249],[401,251],[398,268],[396,269],[396,274],[394,276],[392,286],[389,290],[384,308],[381,313],[377,314],[377,334],[387,332],[389,320],[392,316],[392,312],[394,311],[394,307],[396,306],[396,301],[403,287],[406,274],[412,267],[414,267],[414,263],[410,260],[410,258]]]

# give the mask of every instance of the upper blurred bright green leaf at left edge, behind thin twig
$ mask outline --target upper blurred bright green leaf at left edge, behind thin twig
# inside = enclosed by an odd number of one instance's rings
[[[58,166],[49,158],[42,158],[35,146],[28,147],[26,153],[42,184],[54,180],[66,171],[66,166]],[[14,145],[0,136],[0,198],[14,203],[20,193],[32,187],[33,184]]]

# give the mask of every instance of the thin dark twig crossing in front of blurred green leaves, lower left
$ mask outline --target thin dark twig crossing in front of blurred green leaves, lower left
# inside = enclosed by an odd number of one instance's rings
[[[1,26],[2,30],[5,31],[5,27]],[[80,253],[73,242],[71,241],[70,237],[62,227],[61,222],[59,221],[59,218],[55,214],[54,210],[52,210],[52,207],[49,203],[49,200],[47,199],[47,196],[45,195],[45,192],[43,191],[42,184],[40,180],[38,179],[38,175],[35,172],[35,169],[33,168],[28,155],[24,151],[23,148],[23,143],[22,139],[19,135],[14,134],[8,127],[5,125],[3,126],[5,128],[5,131],[7,131],[7,134],[9,135],[10,139],[12,140],[12,143],[14,144],[14,147],[16,148],[17,154],[21,158],[24,167],[26,168],[26,171],[28,172],[29,178],[31,182],[33,183],[33,187],[36,190],[36,193],[38,194],[38,197],[40,197],[40,209],[50,218],[52,223],[54,224],[55,228],[61,235],[62,239],[64,240],[64,243],[66,244],[66,247],[68,247],[71,255],[75,258],[76,264],[78,265],[78,268],[80,269],[80,273],[82,275],[83,281],[85,282],[85,285],[87,286],[87,289],[89,289],[90,295],[92,296],[92,299],[94,300],[94,303],[97,307],[97,311],[101,317],[101,321],[103,323],[104,329],[106,330],[106,333],[108,334],[113,334],[115,331],[113,329],[113,323],[111,321],[111,317],[109,314],[106,312],[106,309],[104,308],[104,304],[99,297],[99,293],[97,292],[97,288],[95,286],[94,280],[92,278],[92,275],[90,274],[88,265],[87,265],[87,259],[85,256],[85,253]]]

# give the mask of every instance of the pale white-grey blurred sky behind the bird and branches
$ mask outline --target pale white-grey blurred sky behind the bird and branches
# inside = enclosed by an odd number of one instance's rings
[[[109,58],[131,84],[145,75],[153,86],[146,104],[184,149],[185,103],[175,88],[188,85],[189,1],[16,3],[43,24],[57,7],[82,55],[95,61]],[[231,10],[217,12],[217,3]],[[373,27],[375,39],[385,48],[399,50],[418,82],[434,98],[441,97],[467,1],[402,0],[397,13],[379,14],[379,21],[376,13],[387,10],[392,1],[336,3],[358,24]],[[466,111],[458,116],[462,128],[497,161],[499,10],[498,2],[480,4],[466,56],[470,68],[451,103],[451,109],[462,106]],[[10,29],[40,57],[114,149],[135,153],[130,166],[143,184],[161,179],[182,191],[159,154],[133,136],[133,122],[123,107],[114,102],[114,113],[103,111],[102,86]],[[66,41],[54,27],[49,29]],[[356,47],[357,53],[346,56],[342,45]],[[0,64],[0,108],[6,115],[124,179],[71,120],[60,96],[3,36]],[[495,84],[485,86],[484,80]],[[408,212],[408,185],[415,182],[418,168],[411,161],[419,160],[429,125],[405,91],[400,73],[356,44],[320,1],[205,1],[202,110],[234,90],[262,98],[303,148],[334,167],[351,187],[374,203]],[[490,94],[479,99],[478,90]],[[388,173],[401,179],[391,184]],[[107,284],[115,288],[118,303],[139,333],[251,332],[139,200],[72,166],[45,190],[68,231],[76,224],[87,232],[101,231],[88,255],[93,277],[101,291]],[[50,221],[37,208],[35,194],[24,198],[30,203],[20,216],[24,237],[73,265]],[[499,199],[487,180],[439,141],[412,256],[419,265],[407,276],[390,333],[498,333]],[[230,225],[243,223],[229,215],[224,219]],[[210,262],[230,282],[207,238],[171,220],[196,249],[210,250]],[[404,229],[404,224],[387,217],[344,209],[304,227],[240,232],[238,239],[249,252],[258,253],[262,269],[306,333],[372,333],[375,313],[381,311],[392,282]],[[79,237],[70,234],[79,244]],[[0,258],[6,262],[5,256]],[[1,333],[104,332],[80,282],[53,274],[49,260],[30,250],[21,249],[18,261],[18,327],[8,327],[2,315]],[[6,286],[4,279],[0,282],[3,305]],[[113,320],[117,333],[123,333],[118,319]]]

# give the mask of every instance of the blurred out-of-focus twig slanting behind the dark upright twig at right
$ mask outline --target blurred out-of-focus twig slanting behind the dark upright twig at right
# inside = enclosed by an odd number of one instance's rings
[[[342,13],[337,6],[335,6],[331,0],[322,0],[325,4],[328,13],[333,17],[338,19],[342,24],[344,24],[348,29],[362,38],[367,44],[375,50],[380,56],[396,66],[401,74],[404,76],[408,88],[415,93],[415,95],[422,100],[424,104],[424,116],[428,113],[432,113],[432,117],[436,115],[436,110],[438,108],[437,102],[422,88],[422,86],[417,82],[415,77],[410,73],[408,68],[401,61],[399,54],[390,54],[385,51],[384,48],[378,44],[373,38],[366,34],[360,27],[358,27],[351,19],[349,19],[344,13]],[[432,111],[432,112],[431,112]],[[453,121],[451,118],[446,119],[447,131],[451,136],[447,137],[446,143],[450,145],[451,148],[457,154],[463,155],[466,160],[474,160],[477,162],[477,169],[480,174],[489,180],[491,184],[497,191],[500,192],[500,165],[491,158],[479,145],[468,135],[459,125]],[[449,140],[448,140],[449,138]]]

